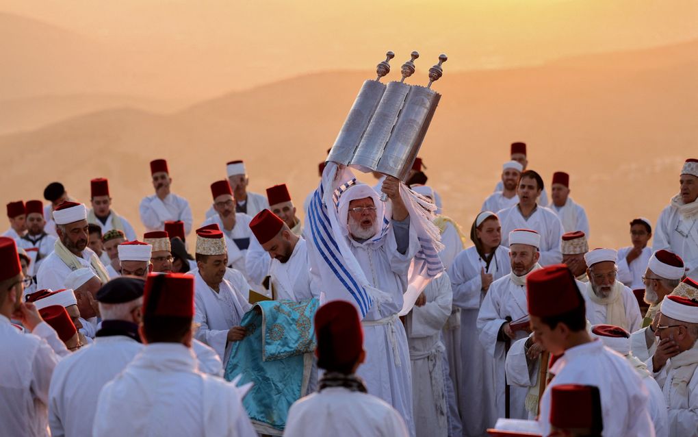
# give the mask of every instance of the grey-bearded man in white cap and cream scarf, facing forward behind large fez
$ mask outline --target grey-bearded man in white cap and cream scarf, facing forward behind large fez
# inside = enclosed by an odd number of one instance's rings
[[[642,326],[640,307],[632,290],[616,280],[616,257],[613,249],[594,249],[584,255],[589,277],[582,290],[586,318],[591,324],[612,324],[632,333]]]

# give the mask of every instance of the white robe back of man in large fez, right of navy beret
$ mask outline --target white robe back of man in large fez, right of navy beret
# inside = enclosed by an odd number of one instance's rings
[[[198,371],[191,349],[152,343],[102,389],[93,435],[256,437],[242,396]]]

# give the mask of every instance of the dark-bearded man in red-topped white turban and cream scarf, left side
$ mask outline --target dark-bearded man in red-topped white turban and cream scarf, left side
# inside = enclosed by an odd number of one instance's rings
[[[36,275],[38,289],[63,289],[71,271],[89,267],[105,284],[109,275],[97,255],[87,247],[87,209],[82,203],[64,202],[53,212],[59,240]]]

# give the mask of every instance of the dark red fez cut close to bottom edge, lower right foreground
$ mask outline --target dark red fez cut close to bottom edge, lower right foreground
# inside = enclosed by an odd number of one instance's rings
[[[551,387],[550,424],[558,429],[603,429],[601,395],[594,385]]]

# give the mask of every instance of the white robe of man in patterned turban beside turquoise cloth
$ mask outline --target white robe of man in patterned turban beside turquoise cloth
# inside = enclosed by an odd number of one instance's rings
[[[252,306],[225,278],[218,293],[204,282],[198,271],[194,275],[194,285],[194,322],[200,325],[195,338],[213,348],[223,363],[228,363],[232,348],[228,331],[239,326],[242,316]]]

